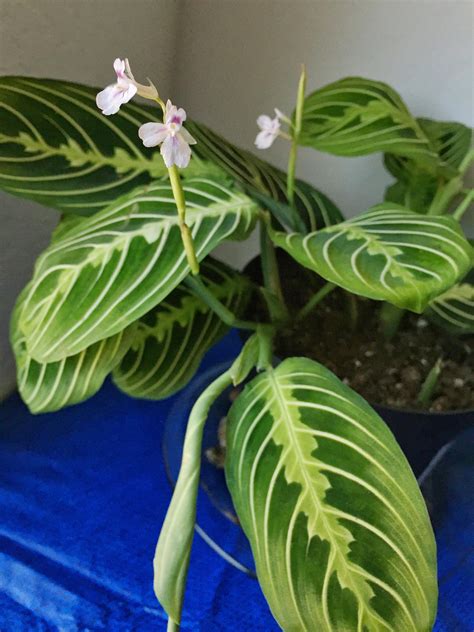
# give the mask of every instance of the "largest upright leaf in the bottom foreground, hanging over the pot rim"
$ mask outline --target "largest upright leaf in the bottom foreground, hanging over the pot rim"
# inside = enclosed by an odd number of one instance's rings
[[[436,549],[415,477],[380,417],[291,358],[231,407],[226,478],[286,632],[428,632]]]

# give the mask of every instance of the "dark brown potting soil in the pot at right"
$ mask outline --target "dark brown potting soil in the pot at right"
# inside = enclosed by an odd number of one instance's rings
[[[325,281],[278,251],[285,301],[296,314]],[[246,273],[261,283],[259,260]],[[380,333],[381,303],[336,289],[304,319],[283,329],[275,353],[321,362],[372,404],[433,412],[474,408],[474,336],[453,337],[426,318],[406,312],[390,340]],[[351,326],[351,314],[357,318]],[[262,302],[248,313],[266,320]],[[442,358],[442,371],[428,406],[417,398],[430,369]]]

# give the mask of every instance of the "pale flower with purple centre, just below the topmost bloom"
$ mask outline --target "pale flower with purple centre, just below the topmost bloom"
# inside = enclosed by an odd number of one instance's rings
[[[177,108],[168,99],[163,123],[145,123],[138,130],[138,135],[145,147],[161,145],[161,155],[165,165],[169,168],[187,167],[191,159],[191,148],[196,141],[191,134],[184,129],[186,112],[183,108]]]

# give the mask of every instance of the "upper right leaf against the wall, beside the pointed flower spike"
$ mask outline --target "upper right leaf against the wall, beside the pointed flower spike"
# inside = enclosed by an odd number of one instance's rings
[[[427,165],[437,160],[397,92],[362,77],[330,83],[305,98],[298,142],[338,156],[390,151]]]

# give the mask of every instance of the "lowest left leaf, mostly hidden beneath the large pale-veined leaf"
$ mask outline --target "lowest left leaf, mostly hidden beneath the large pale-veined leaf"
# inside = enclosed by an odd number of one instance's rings
[[[88,399],[123,358],[132,342],[134,325],[76,355],[57,362],[36,362],[28,354],[25,337],[18,327],[27,290],[17,300],[11,323],[17,384],[23,401],[32,413],[46,413]]]

